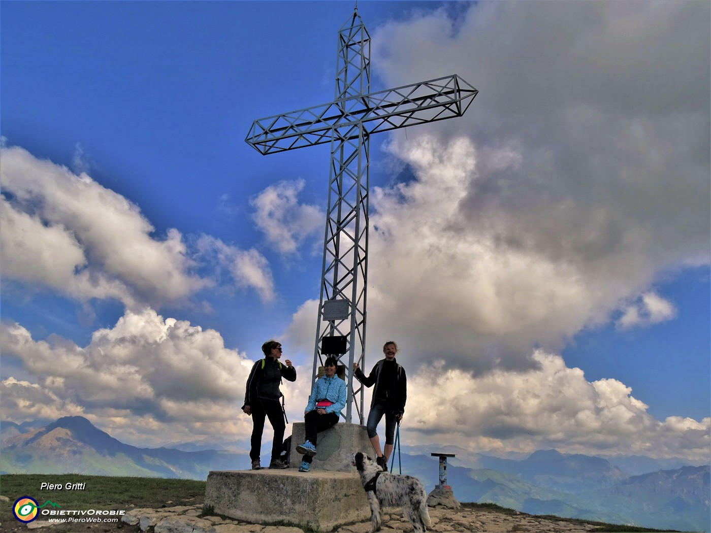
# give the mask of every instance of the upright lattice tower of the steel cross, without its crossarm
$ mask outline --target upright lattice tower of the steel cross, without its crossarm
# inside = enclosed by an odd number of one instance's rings
[[[336,98],[363,97],[370,92],[370,36],[358,11],[338,31],[336,60]],[[341,106],[343,113],[346,107]],[[363,124],[354,124],[355,138],[335,132],[331,138],[331,168],[328,178],[328,212],[324,237],[324,263],[321,267],[321,295],[316,321],[314,378],[319,346],[324,336],[346,337],[348,398],[346,421],[352,420],[352,407],[363,422],[363,387],[353,391],[353,362],[365,359],[365,300],[368,291],[368,163],[370,139]],[[341,306],[339,309],[338,306]],[[335,308],[334,308],[335,307]],[[325,315],[325,317],[324,317]],[[325,318],[333,318],[321,328]]]

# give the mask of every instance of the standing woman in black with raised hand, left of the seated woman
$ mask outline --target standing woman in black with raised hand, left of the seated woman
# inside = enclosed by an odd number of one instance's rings
[[[269,418],[269,424],[274,429],[274,441],[272,441],[272,461],[269,468],[287,468],[287,464],[279,459],[282,453],[282,441],[284,440],[284,408],[279,403],[279,398],[283,396],[279,390],[282,377],[288,381],[296,381],[296,369],[288,359],[284,360],[284,365],[279,359],[282,357],[282,345],[276,340],[267,340],[262,345],[264,359],[255,362],[247,378],[245,390],[245,404],[242,411],[252,415],[252,439],[250,449],[250,459],[252,459],[252,470],[260,470],[260,448],[262,448],[262,431],[264,431],[264,419]]]

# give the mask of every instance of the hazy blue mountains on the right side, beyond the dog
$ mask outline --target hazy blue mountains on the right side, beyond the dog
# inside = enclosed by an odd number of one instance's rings
[[[491,502],[531,515],[556,515],[614,524],[711,531],[710,467],[688,465],[627,475],[604,458],[537,451],[525,459],[471,457],[475,468],[449,459],[447,483],[461,502]],[[439,477],[438,459],[402,453],[402,471],[417,476],[426,487]],[[650,461],[653,461],[650,459]],[[649,464],[652,464],[651,462]],[[395,458],[395,472],[398,462]],[[577,480],[577,483],[576,483]]]

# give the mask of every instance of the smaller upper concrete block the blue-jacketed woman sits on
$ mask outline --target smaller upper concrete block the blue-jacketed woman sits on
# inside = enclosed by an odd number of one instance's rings
[[[292,468],[299,468],[301,465],[301,453],[296,451],[296,446],[305,440],[304,422],[294,422],[292,424],[292,456],[289,461]],[[355,468],[351,465],[353,453],[362,451],[370,457],[375,456],[373,446],[368,438],[368,430],[360,424],[346,424],[340,421],[332,428],[321,431],[317,440],[316,456],[311,463],[311,471],[355,472]]]

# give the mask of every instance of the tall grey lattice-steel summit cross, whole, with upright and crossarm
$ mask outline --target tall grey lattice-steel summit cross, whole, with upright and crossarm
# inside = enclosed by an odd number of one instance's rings
[[[353,362],[358,362],[367,372],[365,296],[368,289],[370,135],[461,117],[477,92],[457,75],[370,92],[370,36],[356,7],[338,31],[333,102],[255,120],[245,139],[264,155],[331,143],[313,378],[315,380],[321,357],[337,353],[340,360],[341,355],[348,353],[346,383],[350,401],[346,407],[346,422],[351,422],[351,407],[355,403],[358,419],[363,424],[363,387],[353,390]],[[328,325],[322,330],[323,321]],[[328,337],[338,336],[345,338],[343,348],[324,349],[324,338],[328,343]]]

